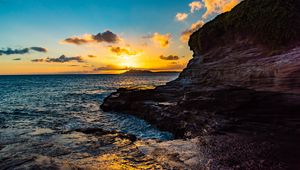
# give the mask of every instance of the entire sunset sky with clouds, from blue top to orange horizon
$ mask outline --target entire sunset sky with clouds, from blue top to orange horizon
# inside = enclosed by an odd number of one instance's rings
[[[180,71],[189,35],[239,0],[0,0],[0,74]]]

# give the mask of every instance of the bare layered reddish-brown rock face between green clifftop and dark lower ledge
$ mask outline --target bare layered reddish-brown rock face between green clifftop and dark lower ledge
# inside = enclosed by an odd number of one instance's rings
[[[299,47],[268,56],[260,47],[231,44],[194,56],[172,83],[199,88],[224,85],[299,94],[299,56]]]

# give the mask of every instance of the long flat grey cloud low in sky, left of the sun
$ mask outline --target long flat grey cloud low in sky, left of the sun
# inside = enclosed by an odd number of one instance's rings
[[[66,57],[65,55],[61,55],[58,58],[45,58],[45,59],[34,59],[31,60],[32,62],[47,62],[47,63],[68,63],[68,62],[78,62],[78,63],[83,63],[84,60],[82,59],[81,56],[76,56],[76,57]]]

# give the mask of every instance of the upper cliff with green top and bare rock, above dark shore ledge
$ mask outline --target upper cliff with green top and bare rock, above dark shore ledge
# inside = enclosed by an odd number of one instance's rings
[[[299,93],[300,1],[247,0],[196,31],[177,83]]]

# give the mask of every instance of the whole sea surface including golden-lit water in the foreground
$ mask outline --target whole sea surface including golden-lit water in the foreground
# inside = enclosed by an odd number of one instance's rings
[[[0,76],[0,169],[163,168],[131,135],[164,141],[172,134],[100,105],[119,87],[153,88],[176,76]]]

